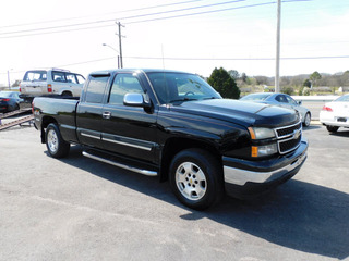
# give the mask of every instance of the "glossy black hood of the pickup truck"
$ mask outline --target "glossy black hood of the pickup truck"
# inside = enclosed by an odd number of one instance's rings
[[[245,127],[252,125],[279,127],[300,121],[299,113],[294,110],[231,99],[185,101],[180,104],[173,104],[170,110],[232,122]]]

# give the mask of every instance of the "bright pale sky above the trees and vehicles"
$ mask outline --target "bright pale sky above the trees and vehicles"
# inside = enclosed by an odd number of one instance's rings
[[[207,77],[220,66],[249,76],[275,74],[276,0],[11,0],[1,5],[0,86],[7,85],[8,71],[13,83],[32,69],[87,76],[117,67],[116,21],[124,25],[124,67]],[[282,1],[280,75],[349,70],[348,25],[348,0]]]

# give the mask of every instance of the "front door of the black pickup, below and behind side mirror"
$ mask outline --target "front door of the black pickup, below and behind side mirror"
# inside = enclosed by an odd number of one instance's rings
[[[127,157],[154,161],[156,113],[123,104],[125,94],[143,94],[142,79],[132,73],[115,76],[108,100],[103,108],[101,139],[104,149]]]

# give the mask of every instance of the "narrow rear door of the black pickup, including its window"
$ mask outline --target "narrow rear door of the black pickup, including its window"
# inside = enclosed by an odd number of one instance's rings
[[[89,75],[86,91],[76,110],[77,138],[81,144],[101,148],[101,112],[110,74]]]

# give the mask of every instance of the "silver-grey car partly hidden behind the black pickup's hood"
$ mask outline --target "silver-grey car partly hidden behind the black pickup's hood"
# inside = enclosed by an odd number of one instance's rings
[[[275,92],[258,92],[258,94],[246,95],[242,97],[240,100],[266,103],[266,104],[278,105],[278,107],[297,110],[302,116],[302,123],[304,127],[308,127],[312,120],[312,114],[310,110],[306,109],[305,107],[302,107],[301,101],[297,102],[289,95],[275,94]]]

